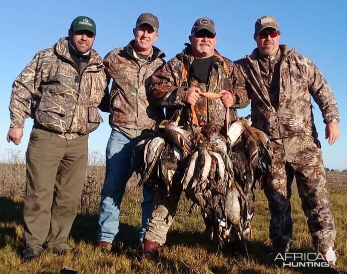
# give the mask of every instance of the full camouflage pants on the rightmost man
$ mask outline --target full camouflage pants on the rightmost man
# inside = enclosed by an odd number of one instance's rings
[[[309,135],[273,140],[271,145],[274,159],[270,174],[264,178],[264,192],[271,214],[269,232],[272,245],[291,244],[290,196],[295,176],[313,244],[322,249],[333,246],[336,231],[327,199],[320,148]]]

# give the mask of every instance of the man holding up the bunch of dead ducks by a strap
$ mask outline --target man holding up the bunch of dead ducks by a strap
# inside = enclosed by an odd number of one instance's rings
[[[188,109],[193,106],[200,126],[224,134],[226,108],[248,104],[244,78],[232,61],[215,50],[216,27],[210,18],[202,17],[195,21],[189,40],[191,43],[185,44],[181,53],[153,74],[147,92],[149,102],[166,107],[169,119],[175,110],[181,109],[180,125],[187,124]],[[224,95],[221,99],[207,99],[200,95],[202,92]],[[244,93],[243,97],[238,93]],[[236,118],[237,112],[231,108],[229,119],[232,122]],[[182,186],[173,183],[168,195],[163,185],[158,185],[154,210],[142,245],[144,257],[152,260],[158,259],[159,246],[166,241],[182,192]]]

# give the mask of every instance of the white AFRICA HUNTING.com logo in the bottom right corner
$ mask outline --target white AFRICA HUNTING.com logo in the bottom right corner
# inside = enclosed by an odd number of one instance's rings
[[[288,252],[278,253],[274,259],[276,263],[281,263],[282,266],[289,267],[335,267],[336,263],[336,249],[333,250],[332,246],[329,246],[325,254],[325,258],[322,253],[300,253],[300,252]]]

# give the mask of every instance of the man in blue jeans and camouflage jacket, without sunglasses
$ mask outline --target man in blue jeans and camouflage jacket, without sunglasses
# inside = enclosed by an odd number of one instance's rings
[[[135,144],[149,135],[163,117],[162,107],[148,105],[148,78],[164,64],[165,54],[153,44],[159,34],[159,21],[152,13],[142,13],[133,29],[134,39],[125,47],[111,50],[104,59],[108,82],[112,80],[109,101],[111,135],[106,147],[106,174],[99,208],[98,249],[110,252],[118,233],[120,204],[131,176],[131,156]],[[153,204],[153,189],[143,188],[142,241]]]

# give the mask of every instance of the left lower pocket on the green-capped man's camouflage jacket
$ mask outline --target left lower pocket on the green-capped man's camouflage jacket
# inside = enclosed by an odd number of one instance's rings
[[[55,132],[64,133],[72,122],[74,101],[42,94],[35,111],[35,119]]]

